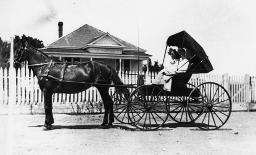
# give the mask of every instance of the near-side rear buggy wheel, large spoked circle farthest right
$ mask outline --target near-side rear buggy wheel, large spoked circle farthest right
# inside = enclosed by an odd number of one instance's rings
[[[230,96],[218,83],[199,84],[188,98],[188,115],[201,129],[218,129],[227,122],[231,114]]]

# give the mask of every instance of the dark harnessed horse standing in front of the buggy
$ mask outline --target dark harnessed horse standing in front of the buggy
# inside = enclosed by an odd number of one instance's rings
[[[79,93],[87,90],[96,83],[104,104],[104,118],[101,126],[111,127],[114,122],[113,101],[109,95],[109,87],[113,82],[116,85],[123,85],[116,71],[110,66],[89,61],[78,64],[70,64],[55,60],[47,54],[28,46],[22,40],[20,46],[14,52],[14,62],[28,61],[28,66],[38,78],[40,90],[45,98],[45,127],[52,129],[54,123],[52,114],[53,93]],[[70,82],[67,82],[70,81]],[[100,85],[102,84],[102,85]],[[116,87],[117,91],[129,93],[125,87]],[[109,115],[110,114],[110,115]]]

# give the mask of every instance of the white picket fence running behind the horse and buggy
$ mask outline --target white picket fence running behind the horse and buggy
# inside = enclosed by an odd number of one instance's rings
[[[0,105],[7,105],[8,98],[16,98],[16,105],[41,105],[44,104],[44,97],[37,84],[37,78],[29,69],[23,67],[16,73],[16,90],[13,94],[8,94],[8,70],[0,68]],[[130,76],[129,76],[130,74]],[[119,73],[122,81],[125,84],[136,84],[137,73]],[[154,80],[154,74],[145,74],[145,84],[150,84]],[[193,74],[189,83],[198,85],[200,83],[212,81],[223,85],[229,92],[233,103],[254,103],[256,102],[256,78],[250,77],[248,74],[244,76],[228,76],[212,75],[212,74]],[[15,92],[16,91],[16,92]],[[110,88],[110,95],[115,91],[114,87]],[[78,94],[54,94],[53,104],[73,104],[82,103],[90,104],[91,102],[100,102],[101,97],[95,87],[91,87],[86,91]]]

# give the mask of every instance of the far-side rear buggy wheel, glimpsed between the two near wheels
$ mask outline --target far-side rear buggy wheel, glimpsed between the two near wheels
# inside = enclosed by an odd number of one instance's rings
[[[196,86],[190,83],[186,84],[187,88],[195,88]],[[175,91],[175,90],[174,90]],[[169,116],[175,122],[188,124],[191,123],[191,119],[187,114],[187,96],[170,96],[170,113]]]

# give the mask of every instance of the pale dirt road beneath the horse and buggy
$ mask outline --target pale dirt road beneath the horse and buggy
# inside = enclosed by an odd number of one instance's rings
[[[118,122],[102,129],[102,117],[58,114],[54,129],[44,131],[44,115],[14,115],[13,154],[255,154],[255,112],[233,112],[214,131],[171,120],[156,131]],[[7,120],[0,116],[0,154],[6,152]]]

